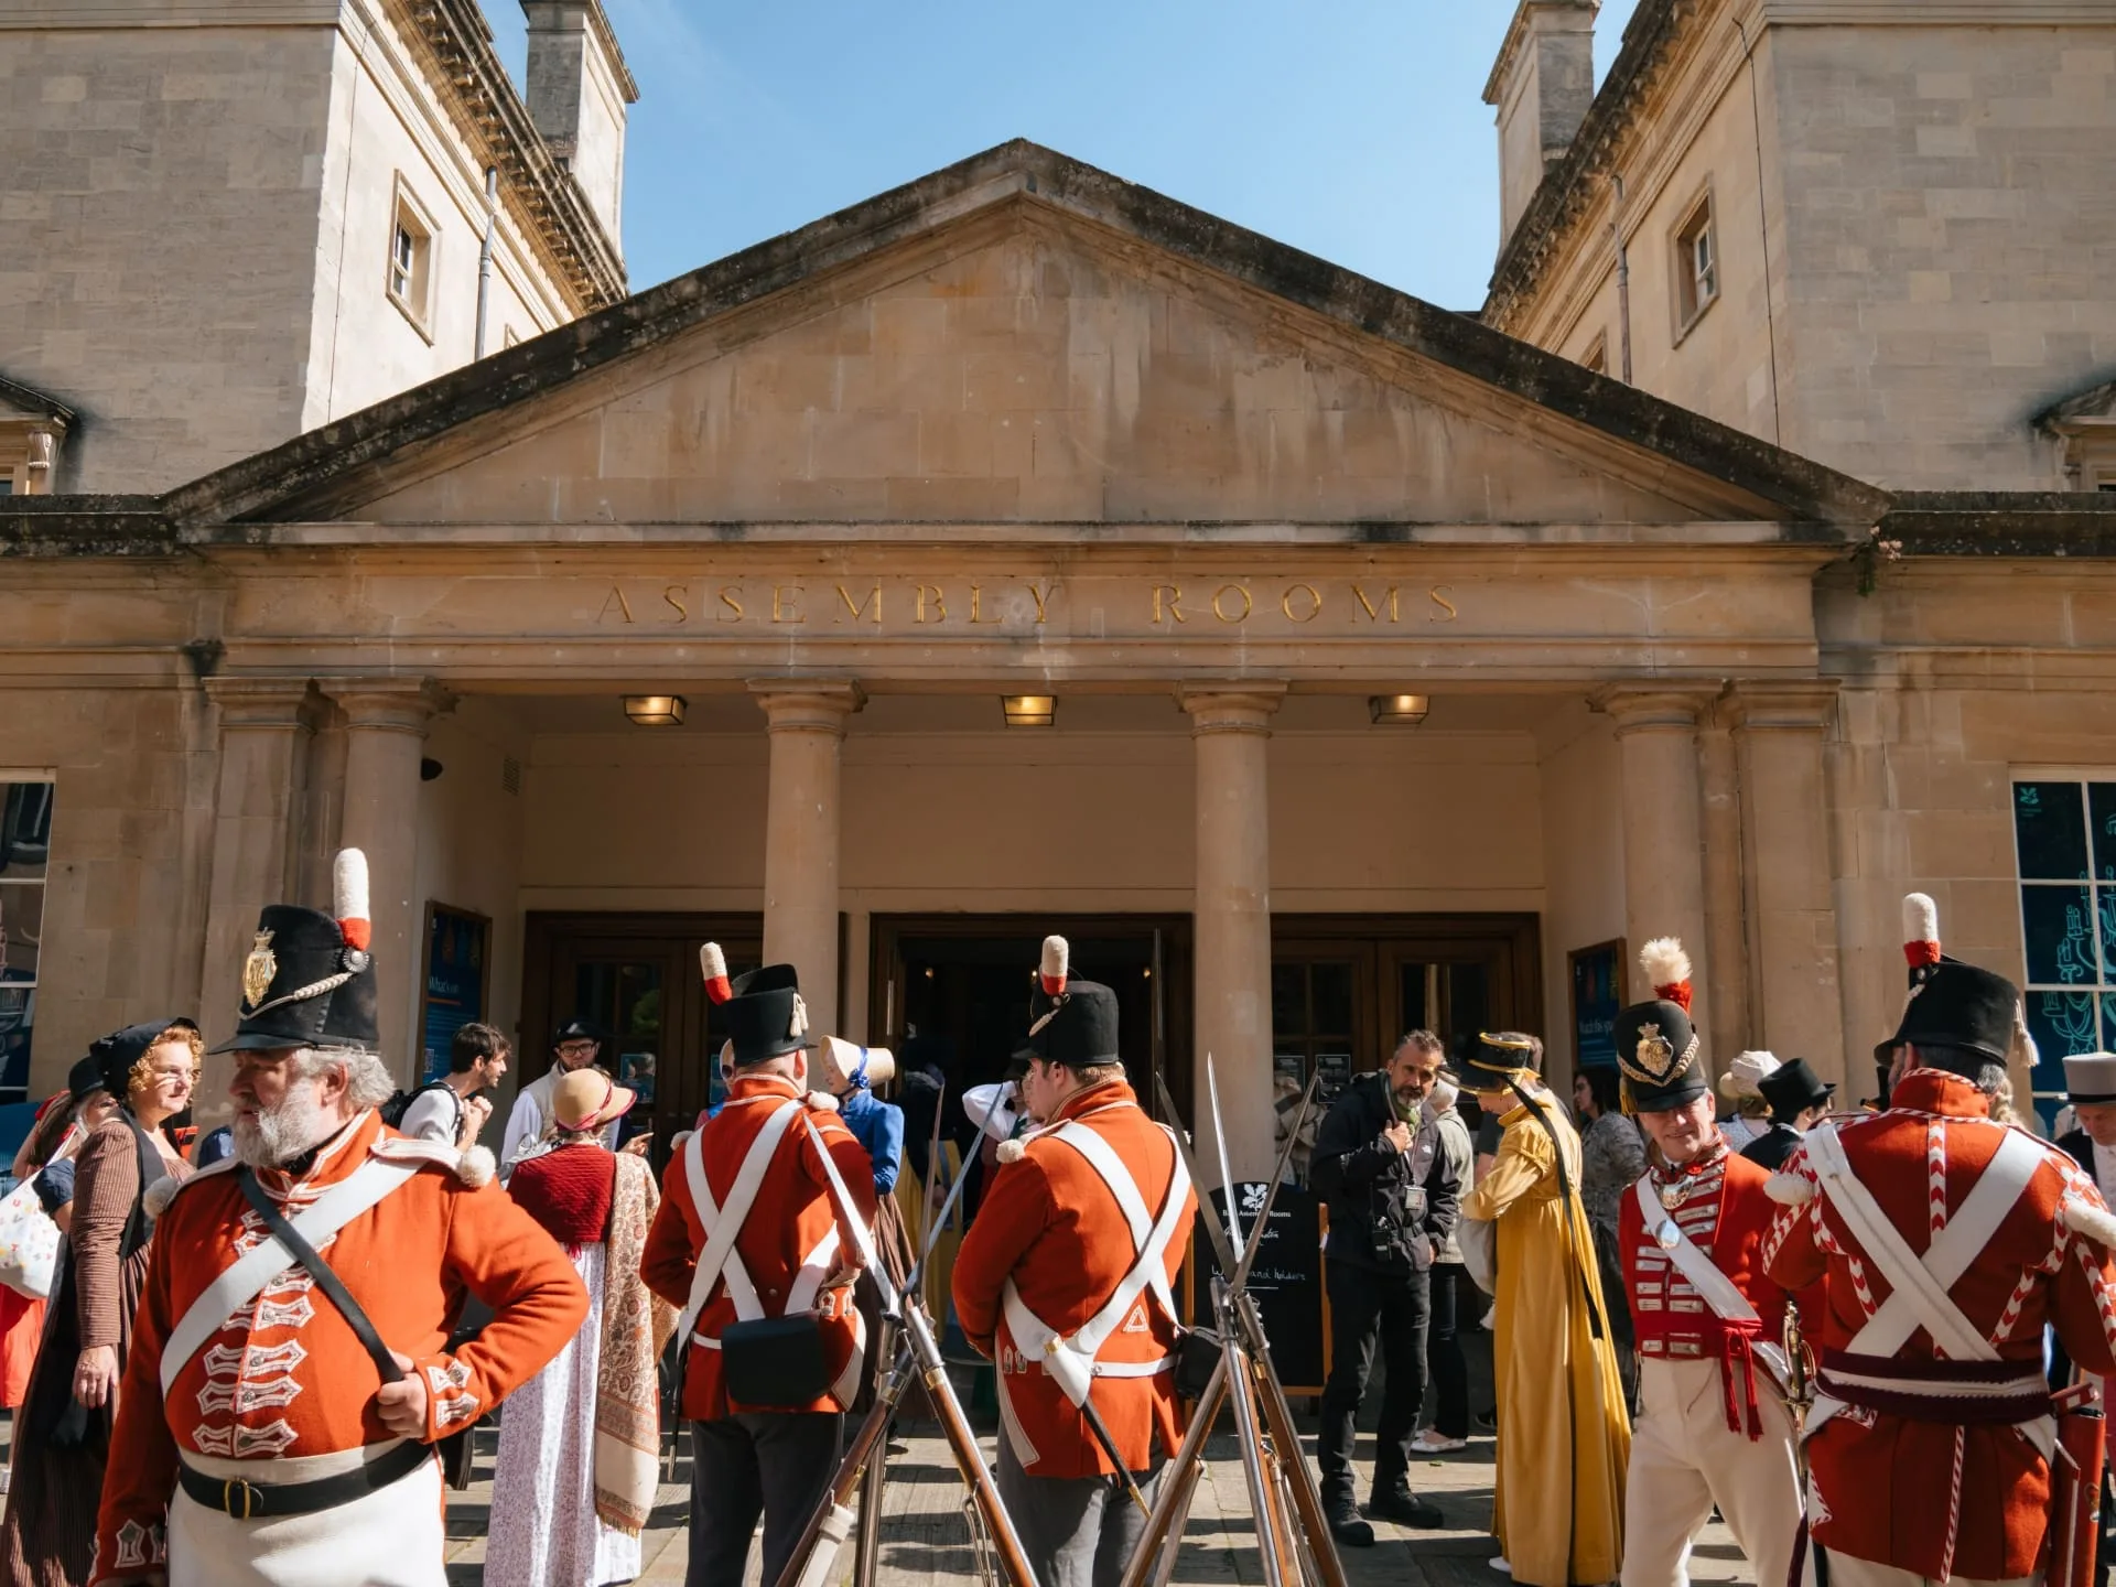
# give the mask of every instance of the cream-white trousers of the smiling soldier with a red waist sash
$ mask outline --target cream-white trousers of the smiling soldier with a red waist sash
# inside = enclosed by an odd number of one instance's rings
[[[1756,1587],[1784,1587],[1801,1526],[1801,1479],[1792,1422],[1763,1369],[1756,1371],[1763,1437],[1754,1441],[1727,1428],[1716,1361],[1640,1356],[1638,1392],[1642,1411],[1631,1428],[1623,1500],[1623,1587],[1686,1587],[1691,1538],[1712,1519],[1714,1504],[1756,1568]]]

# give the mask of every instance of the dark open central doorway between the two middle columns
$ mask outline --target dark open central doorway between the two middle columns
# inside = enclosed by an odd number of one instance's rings
[[[1047,933],[1073,946],[1073,975],[1117,995],[1117,1045],[1153,1107],[1153,1075],[1189,1115],[1191,923],[1187,914],[876,914],[868,1041],[901,1050],[942,1037],[948,1096],[999,1079],[1028,1033]],[[950,1109],[952,1113],[952,1109]]]

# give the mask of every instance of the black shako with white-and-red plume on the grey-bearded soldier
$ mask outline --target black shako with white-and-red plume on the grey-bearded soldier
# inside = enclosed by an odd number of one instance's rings
[[[330,868],[332,914],[267,904],[243,959],[235,1039],[214,1052],[355,1047],[379,1054],[368,857],[341,849]]]

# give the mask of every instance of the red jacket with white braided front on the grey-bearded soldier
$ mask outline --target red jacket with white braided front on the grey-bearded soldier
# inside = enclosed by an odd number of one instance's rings
[[[391,1350],[425,1378],[425,1439],[457,1433],[544,1369],[588,1316],[588,1291],[559,1244],[499,1185],[463,1185],[455,1153],[413,1143],[372,1111],[330,1141],[307,1174],[258,1181],[298,1217],[370,1155],[425,1164],[320,1251]],[[233,1162],[233,1160],[231,1160]],[[178,1454],[271,1462],[389,1443],[375,1413],[381,1375],[339,1308],[294,1265],[237,1308],[161,1392],[163,1339],[235,1259],[264,1240],[235,1172],[201,1170],[154,1223],[133,1316],[95,1534],[95,1583],[161,1568]],[[449,1331],[476,1295],[493,1320],[461,1350]],[[438,1562],[436,1566],[438,1568]]]

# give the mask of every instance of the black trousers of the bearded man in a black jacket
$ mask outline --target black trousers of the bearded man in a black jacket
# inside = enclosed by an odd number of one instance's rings
[[[1386,1488],[1409,1471],[1418,1403],[1426,1397],[1428,1306],[1426,1274],[1380,1274],[1344,1261],[1329,1265],[1331,1367],[1316,1435],[1325,1500],[1352,1492],[1354,1424],[1373,1371],[1375,1342],[1388,1384],[1373,1443],[1373,1485]]]

